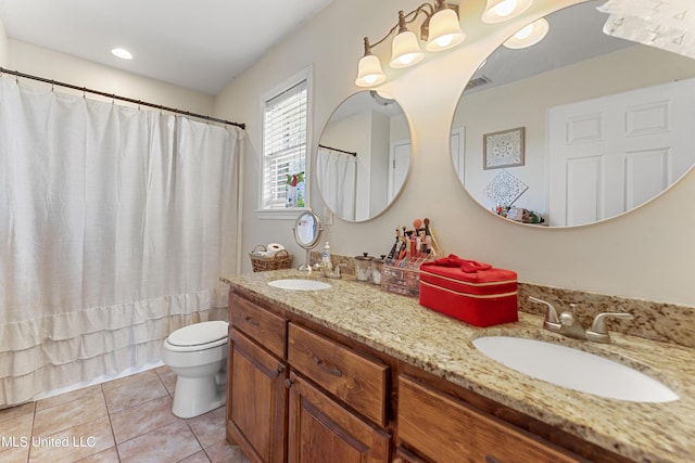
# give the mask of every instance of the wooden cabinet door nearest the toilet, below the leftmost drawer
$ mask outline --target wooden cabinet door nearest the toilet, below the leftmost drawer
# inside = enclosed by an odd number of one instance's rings
[[[229,432],[252,460],[286,462],[287,365],[238,330],[229,336]]]

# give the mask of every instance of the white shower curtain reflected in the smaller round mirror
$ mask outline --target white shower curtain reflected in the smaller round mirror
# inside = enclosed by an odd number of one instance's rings
[[[355,220],[357,158],[350,154],[318,149],[318,188],[326,205],[340,218]]]

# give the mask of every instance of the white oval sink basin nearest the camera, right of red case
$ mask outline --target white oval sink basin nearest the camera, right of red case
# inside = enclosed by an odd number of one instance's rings
[[[513,370],[581,393],[632,402],[678,400],[675,393],[644,373],[571,347],[510,336],[479,337],[472,343]]]

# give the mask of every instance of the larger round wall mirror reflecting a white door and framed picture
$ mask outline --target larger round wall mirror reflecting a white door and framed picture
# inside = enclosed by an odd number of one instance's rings
[[[543,40],[501,46],[468,82],[452,158],[486,209],[525,223],[593,223],[644,204],[694,164],[695,60],[615,37],[621,23],[602,3],[546,16]]]

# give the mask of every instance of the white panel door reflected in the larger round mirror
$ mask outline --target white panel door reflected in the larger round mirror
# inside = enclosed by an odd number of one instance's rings
[[[548,220],[614,217],[695,163],[695,79],[548,110]]]

